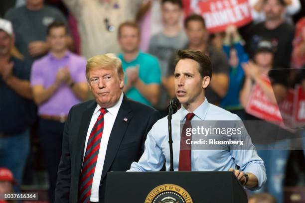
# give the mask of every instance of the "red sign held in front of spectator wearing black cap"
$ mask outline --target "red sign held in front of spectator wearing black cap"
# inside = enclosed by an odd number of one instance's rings
[[[271,86],[270,81],[264,78],[265,82]],[[259,85],[254,85],[250,94],[249,102],[246,106],[246,112],[260,119],[267,121],[282,121],[279,106],[272,103],[264,94]]]

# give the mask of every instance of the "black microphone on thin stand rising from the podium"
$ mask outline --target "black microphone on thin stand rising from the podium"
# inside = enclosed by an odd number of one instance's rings
[[[177,112],[179,101],[177,98],[171,99],[167,106],[168,111],[168,144],[169,144],[169,157],[170,157],[170,168],[169,171],[173,171],[173,152],[172,152],[172,137],[171,137],[171,115]]]

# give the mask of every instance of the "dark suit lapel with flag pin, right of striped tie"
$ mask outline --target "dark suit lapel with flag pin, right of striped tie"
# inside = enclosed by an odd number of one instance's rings
[[[128,99],[124,95],[123,102],[118,111],[118,115],[114,122],[113,128],[111,130],[111,134],[108,141],[104,167],[101,177],[101,182],[109,171],[116,154],[118,152],[121,141],[126,133],[127,126],[132,119],[132,109],[129,105]]]

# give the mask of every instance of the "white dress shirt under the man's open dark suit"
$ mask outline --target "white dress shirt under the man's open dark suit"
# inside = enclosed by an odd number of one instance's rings
[[[103,167],[104,167],[108,140],[110,137],[110,133],[111,133],[113,124],[117,117],[118,111],[122,104],[123,97],[124,97],[124,94],[122,93],[119,101],[114,106],[112,106],[110,108],[106,108],[108,110],[108,112],[104,115],[104,129],[103,129],[103,135],[102,135],[102,139],[101,139],[98,159],[96,162],[96,167],[95,167],[95,171],[94,171],[94,175],[93,175],[90,202],[99,202],[99,187],[100,187],[102,171],[103,171]],[[90,121],[88,132],[87,132],[87,137],[86,137],[84,156],[86,153],[87,142],[88,142],[90,133],[92,131],[92,128],[93,128],[95,122],[97,121],[97,119],[100,115],[100,111],[99,111],[100,108],[101,108],[101,106],[99,104],[97,104],[97,106],[93,112],[93,115],[91,117],[91,121]]]

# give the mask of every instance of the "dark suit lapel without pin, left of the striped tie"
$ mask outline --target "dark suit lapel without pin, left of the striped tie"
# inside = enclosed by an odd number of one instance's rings
[[[75,161],[77,167],[76,170],[77,170],[77,174],[79,175],[81,173],[82,164],[83,164],[86,136],[91,121],[91,117],[93,115],[94,109],[96,108],[96,105],[97,103],[95,101],[90,103],[87,106],[87,108],[84,110],[81,117],[80,127],[76,141],[76,152],[75,152]]]

